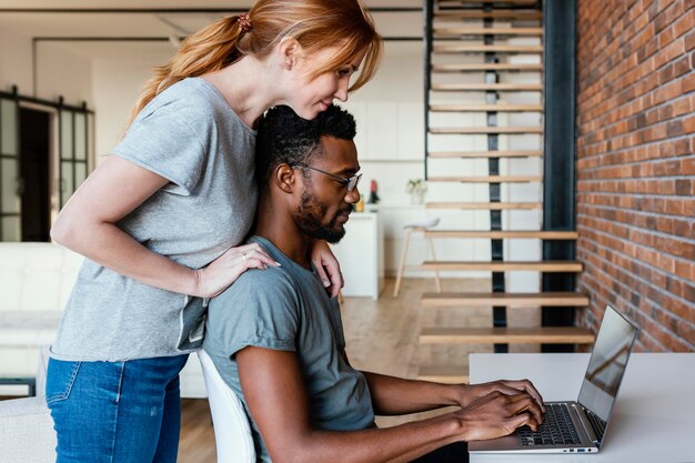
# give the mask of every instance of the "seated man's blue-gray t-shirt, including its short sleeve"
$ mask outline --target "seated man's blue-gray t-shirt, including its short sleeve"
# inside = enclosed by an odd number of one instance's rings
[[[314,272],[289,259],[270,241],[260,236],[251,241],[282,266],[249,270],[210,302],[203,349],[244,404],[259,461],[270,462],[270,456],[249,414],[234,360],[234,354],[246,346],[296,353],[314,427],[373,427],[366,379],[343,356],[345,339],[336,298],[330,299]]]

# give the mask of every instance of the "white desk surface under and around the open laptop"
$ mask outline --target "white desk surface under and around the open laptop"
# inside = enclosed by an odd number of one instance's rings
[[[576,400],[588,354],[471,354],[471,383],[533,381],[545,401]],[[633,353],[597,454],[482,455],[471,463],[695,462],[695,353]]]

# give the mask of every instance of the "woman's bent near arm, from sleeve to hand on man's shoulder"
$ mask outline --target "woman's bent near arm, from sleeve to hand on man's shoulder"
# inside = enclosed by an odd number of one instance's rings
[[[246,269],[274,264],[258,244],[248,244],[230,249],[204,269],[192,270],[150,251],[115,225],[168,182],[111,155],[70,198],[51,238],[141,283],[203,298],[219,294]]]

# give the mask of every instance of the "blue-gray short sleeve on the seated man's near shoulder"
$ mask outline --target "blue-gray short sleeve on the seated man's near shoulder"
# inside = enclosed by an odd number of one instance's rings
[[[249,270],[211,301],[205,343],[228,358],[248,346],[295,352],[299,308],[296,291],[281,270]]]

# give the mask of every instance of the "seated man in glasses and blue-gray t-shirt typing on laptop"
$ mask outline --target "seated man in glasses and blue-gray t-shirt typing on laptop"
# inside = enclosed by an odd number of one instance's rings
[[[259,460],[462,462],[465,441],[535,429],[542,400],[527,381],[437,384],[350,365],[338,301],[326,295],[309,250],[312,240],[338,242],[360,199],[354,135],[354,119],[335,105],[313,121],[275,108],[259,125],[260,202],[250,241],[281,266],[249,270],[213,300],[203,343],[244,404]],[[374,414],[446,405],[460,409],[389,429],[374,424]]]

